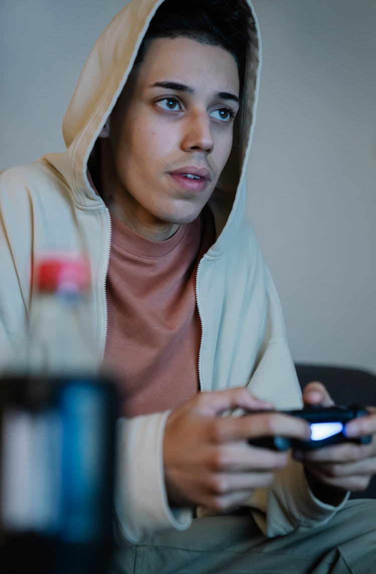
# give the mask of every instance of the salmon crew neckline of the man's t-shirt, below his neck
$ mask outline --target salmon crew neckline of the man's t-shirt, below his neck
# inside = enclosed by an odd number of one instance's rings
[[[111,223],[116,237],[114,243],[118,247],[138,257],[150,259],[159,259],[171,253],[183,241],[188,229],[188,224],[181,224],[168,239],[153,241],[153,239],[148,239],[128,227],[114,214],[111,214]]]

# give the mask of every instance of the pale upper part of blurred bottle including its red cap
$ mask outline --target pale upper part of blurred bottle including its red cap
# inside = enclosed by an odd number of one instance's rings
[[[28,370],[96,374],[99,356],[89,323],[90,267],[80,255],[40,259],[34,266]]]

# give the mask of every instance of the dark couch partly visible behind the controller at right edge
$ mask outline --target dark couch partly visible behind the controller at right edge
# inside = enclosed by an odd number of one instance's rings
[[[303,363],[295,367],[302,389],[308,382],[320,381],[337,405],[376,405],[376,376],[367,371]],[[351,498],[376,498],[376,476],[367,490],[353,492]]]

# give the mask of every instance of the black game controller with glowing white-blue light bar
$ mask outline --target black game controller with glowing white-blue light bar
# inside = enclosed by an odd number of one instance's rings
[[[258,413],[260,412],[262,411],[258,411]],[[259,439],[250,439],[250,445],[260,448],[270,448],[274,451],[286,451],[288,448],[309,451],[346,442],[369,444],[372,440],[371,436],[362,436],[352,439],[344,435],[343,431],[346,422],[351,421],[353,418],[369,414],[364,407],[359,405],[350,405],[347,407],[312,406],[302,410],[284,410],[278,412],[304,418],[304,420],[308,421],[311,425],[311,439],[299,440],[284,436],[266,436]],[[251,412],[247,414],[251,414]]]

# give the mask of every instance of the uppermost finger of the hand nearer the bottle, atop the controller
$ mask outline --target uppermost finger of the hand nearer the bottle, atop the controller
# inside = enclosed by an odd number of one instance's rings
[[[218,416],[226,410],[265,410],[272,409],[273,405],[254,397],[245,387],[234,387],[223,391],[200,393],[196,399],[196,412],[206,416]]]

